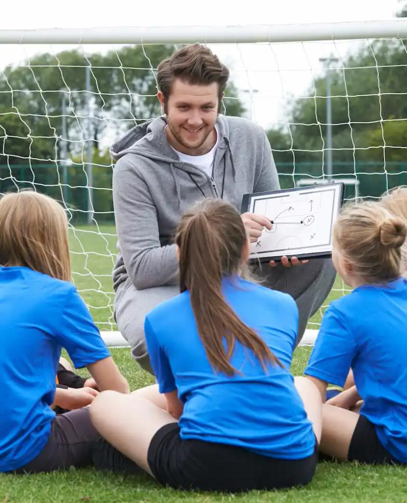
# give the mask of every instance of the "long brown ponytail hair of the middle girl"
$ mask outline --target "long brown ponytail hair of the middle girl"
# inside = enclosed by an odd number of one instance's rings
[[[246,245],[239,213],[220,199],[204,199],[185,213],[175,242],[180,250],[180,289],[189,290],[199,337],[212,368],[233,376],[235,341],[266,363],[281,366],[258,334],[235,314],[222,295],[222,278],[238,274]],[[226,351],[223,346],[226,341]]]

